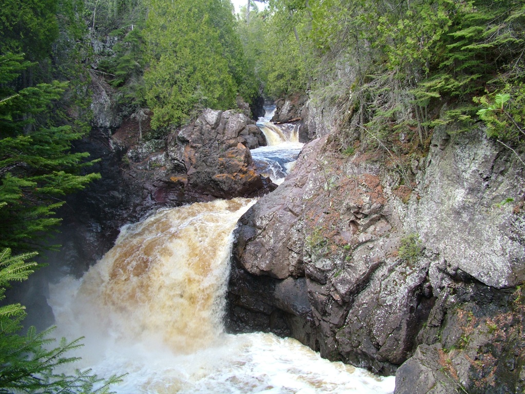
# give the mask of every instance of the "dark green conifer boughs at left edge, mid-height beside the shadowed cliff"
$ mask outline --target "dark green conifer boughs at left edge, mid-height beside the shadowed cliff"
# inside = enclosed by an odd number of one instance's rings
[[[85,187],[98,174],[82,175],[87,153],[70,152],[81,133],[53,125],[46,112],[65,84],[11,87],[29,65],[22,55],[0,56],[0,247],[30,250],[58,223],[61,197]]]

